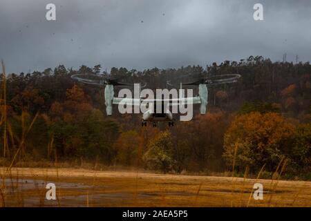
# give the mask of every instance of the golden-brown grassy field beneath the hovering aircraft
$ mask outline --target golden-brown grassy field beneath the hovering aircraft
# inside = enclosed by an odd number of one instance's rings
[[[311,182],[85,169],[0,168],[0,206],[311,206]],[[46,199],[46,184],[56,200]],[[254,200],[254,183],[263,200]]]

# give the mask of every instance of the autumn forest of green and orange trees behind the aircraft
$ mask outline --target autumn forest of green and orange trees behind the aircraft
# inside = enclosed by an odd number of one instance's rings
[[[111,68],[124,82],[165,88],[202,76],[239,74],[236,84],[209,87],[207,115],[168,127],[141,127],[141,115],[105,113],[104,91],[71,75],[109,75],[100,65],[63,65],[1,75],[1,162],[100,162],[162,172],[257,173],[264,166],[311,178],[311,65],[261,56],[210,66]],[[194,88],[195,89],[195,88]],[[116,107],[117,108],[117,107]]]

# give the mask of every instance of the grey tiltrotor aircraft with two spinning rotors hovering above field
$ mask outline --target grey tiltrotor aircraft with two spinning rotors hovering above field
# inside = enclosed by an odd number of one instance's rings
[[[104,99],[106,105],[106,114],[111,116],[113,114],[113,104],[126,104],[132,106],[141,106],[153,104],[148,111],[142,113],[142,126],[147,126],[147,122],[151,122],[153,126],[157,126],[157,122],[168,122],[169,126],[174,125],[173,113],[169,111],[169,106],[178,106],[180,104],[200,104],[200,114],[205,115],[207,112],[208,103],[208,90],[209,86],[214,86],[217,84],[229,84],[234,83],[241,77],[241,75],[216,75],[214,77],[201,77],[196,81],[182,84],[180,82],[180,89],[182,86],[198,86],[198,95],[195,97],[178,97],[178,98],[168,98],[168,99],[142,99],[139,98],[124,98],[115,97],[114,87],[129,87],[135,84],[127,84],[118,81],[115,77],[104,76],[100,79],[88,79],[87,75],[72,75],[72,79],[75,79],[84,84],[89,84],[93,86],[104,87]],[[94,77],[94,76],[93,76]],[[140,85],[140,83],[139,83]],[[168,86],[176,86],[167,81]],[[140,88],[144,88],[141,86]],[[155,105],[155,104],[159,104]],[[164,104],[165,103],[165,104]]]

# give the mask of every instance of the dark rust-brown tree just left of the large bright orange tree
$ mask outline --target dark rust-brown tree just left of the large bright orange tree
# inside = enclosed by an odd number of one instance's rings
[[[229,116],[224,111],[197,115],[173,129],[177,171],[217,171],[223,164],[223,137]]]

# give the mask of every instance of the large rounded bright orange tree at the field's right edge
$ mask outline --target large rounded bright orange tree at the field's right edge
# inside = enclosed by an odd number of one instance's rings
[[[237,148],[237,166],[273,167],[288,153],[294,132],[295,126],[278,113],[238,115],[225,133],[223,157],[232,165]]]

